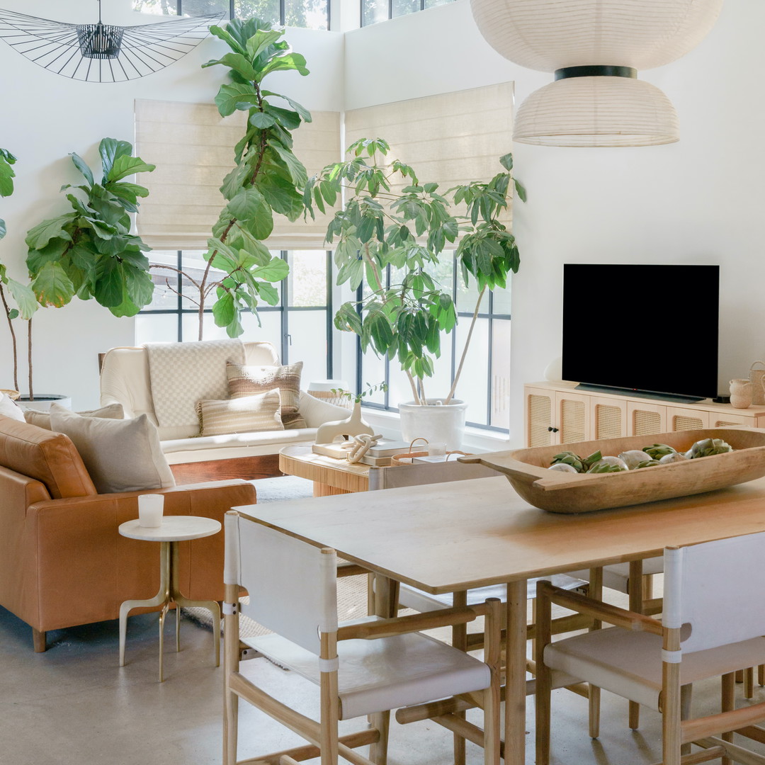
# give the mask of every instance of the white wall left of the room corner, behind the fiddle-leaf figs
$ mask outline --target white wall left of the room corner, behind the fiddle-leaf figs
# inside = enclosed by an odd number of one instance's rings
[[[93,0],[6,0],[5,8],[77,23],[95,21]],[[104,4],[104,21],[144,24],[161,18],[135,14],[130,0]],[[275,90],[283,88],[308,109],[342,109],[343,39],[339,33],[291,29],[288,41],[308,59],[310,77],[298,73],[273,75]],[[128,83],[82,83],[67,80],[38,67],[0,41],[0,145],[18,157],[16,190],[0,200],[0,217],[8,236],[0,242],[0,261],[11,275],[24,278],[28,229],[47,217],[67,211],[59,188],[78,183],[70,151],[77,151],[92,167],[99,167],[98,143],[110,136],[133,142],[133,103],[137,98],[211,102],[224,81],[223,67],[200,65],[229,50],[208,37],[170,67]],[[24,327],[18,323],[26,343]],[[34,318],[34,389],[67,392],[76,409],[97,405],[98,353],[112,346],[132,345],[134,321],[117,319],[96,301],[77,298],[65,308],[38,311]],[[26,357],[25,347],[21,349]],[[26,370],[21,365],[19,386],[26,391]],[[0,388],[12,388],[10,340],[0,324]]]

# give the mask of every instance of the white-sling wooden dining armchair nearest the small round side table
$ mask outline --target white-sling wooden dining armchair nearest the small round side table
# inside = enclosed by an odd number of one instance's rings
[[[499,603],[457,607],[438,614],[396,619],[366,617],[337,623],[337,556],[255,519],[226,513],[226,601],[224,614],[223,763],[237,762],[239,700],[275,718],[308,742],[242,762],[296,765],[321,757],[336,765],[385,765],[389,710],[452,695],[475,698],[483,708],[483,731],[461,721],[462,730],[480,735],[485,765],[500,763]],[[249,603],[239,601],[240,588]],[[239,636],[239,613],[272,634]],[[431,627],[467,623],[483,616],[487,625],[484,660],[419,633]],[[319,688],[317,720],[265,692],[260,662],[239,662],[241,643]],[[353,734],[339,736],[338,721],[370,716]],[[369,744],[369,757],[356,747]]]

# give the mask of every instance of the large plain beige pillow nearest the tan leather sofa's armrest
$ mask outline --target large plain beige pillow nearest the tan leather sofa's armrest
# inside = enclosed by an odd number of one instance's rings
[[[72,440],[99,494],[175,486],[157,426],[146,415],[132,420],[81,417],[52,404],[50,427]]]

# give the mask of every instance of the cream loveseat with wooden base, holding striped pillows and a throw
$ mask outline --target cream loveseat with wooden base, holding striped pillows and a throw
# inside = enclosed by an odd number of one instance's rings
[[[278,356],[271,343],[243,343],[247,365],[275,365]],[[183,362],[194,375],[194,358]],[[183,396],[184,391],[178,391]],[[101,367],[101,405],[119,402],[125,417],[147,414],[159,428],[162,450],[178,483],[229,478],[254,479],[281,475],[278,452],[288,444],[311,444],[316,428],[324,422],[347,418],[343,407],[314,399],[301,390],[299,411],[307,428],[259,431],[199,437],[199,425],[163,428],[155,415],[151,396],[148,353],[144,347],[112,348]]]

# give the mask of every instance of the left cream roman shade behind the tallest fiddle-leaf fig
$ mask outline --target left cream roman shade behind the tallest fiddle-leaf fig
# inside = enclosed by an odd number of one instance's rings
[[[313,122],[293,132],[295,155],[311,176],[340,157],[340,113],[311,112]],[[157,165],[138,175],[149,190],[137,216],[138,233],[154,249],[207,249],[226,200],[223,178],[233,168],[234,146],[244,135],[246,113],[221,117],[214,104],[137,100],[135,151]],[[330,216],[274,216],[271,249],[324,249]]]

